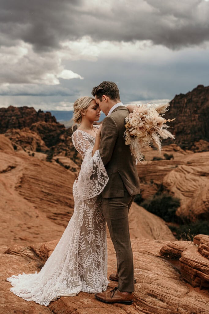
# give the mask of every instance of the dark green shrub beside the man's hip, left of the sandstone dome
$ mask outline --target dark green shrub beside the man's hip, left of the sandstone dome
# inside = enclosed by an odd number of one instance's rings
[[[175,212],[180,206],[179,198],[175,198],[167,193],[155,194],[152,198],[146,199],[140,205],[150,213],[163,218],[165,221],[178,221]]]

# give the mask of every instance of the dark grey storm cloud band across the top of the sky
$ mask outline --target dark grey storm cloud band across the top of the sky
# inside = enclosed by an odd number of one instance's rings
[[[39,51],[84,35],[95,41],[151,40],[176,49],[209,40],[208,16],[204,0],[1,0],[0,29],[5,45],[21,39]]]

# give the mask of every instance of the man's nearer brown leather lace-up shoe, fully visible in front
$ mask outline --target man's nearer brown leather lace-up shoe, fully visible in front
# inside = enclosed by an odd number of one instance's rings
[[[96,293],[95,298],[105,303],[123,303],[131,305],[133,302],[133,293],[123,294],[115,287],[110,291]]]

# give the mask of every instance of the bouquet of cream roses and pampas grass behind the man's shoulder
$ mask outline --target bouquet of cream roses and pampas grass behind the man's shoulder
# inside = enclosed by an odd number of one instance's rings
[[[144,159],[141,152],[143,147],[150,146],[152,143],[160,152],[162,138],[175,138],[173,134],[166,130],[168,126],[164,124],[175,119],[165,120],[162,117],[168,111],[169,106],[170,104],[139,105],[125,118],[125,143],[130,145],[131,153],[137,160],[142,161]]]

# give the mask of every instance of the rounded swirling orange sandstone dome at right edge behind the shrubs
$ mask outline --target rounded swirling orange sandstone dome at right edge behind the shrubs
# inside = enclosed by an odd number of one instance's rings
[[[171,170],[163,185],[180,198],[180,217],[209,219],[209,152],[189,154],[184,164]]]

